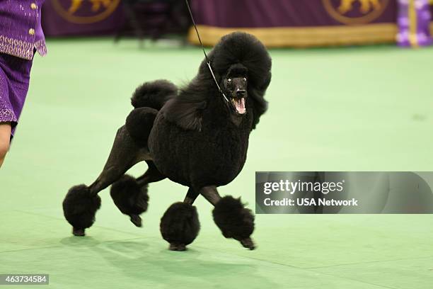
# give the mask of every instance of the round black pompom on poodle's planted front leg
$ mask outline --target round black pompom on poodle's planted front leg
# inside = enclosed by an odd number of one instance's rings
[[[187,203],[174,203],[161,217],[161,234],[173,251],[184,251],[200,231],[197,209]]]

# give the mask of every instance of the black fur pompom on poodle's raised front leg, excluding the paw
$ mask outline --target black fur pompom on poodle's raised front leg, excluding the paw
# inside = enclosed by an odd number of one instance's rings
[[[244,208],[241,199],[232,196],[221,198],[212,211],[214,221],[226,238],[246,239],[254,231],[254,215]]]

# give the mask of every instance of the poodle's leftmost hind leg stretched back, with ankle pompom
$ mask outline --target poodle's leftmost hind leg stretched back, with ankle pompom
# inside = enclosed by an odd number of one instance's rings
[[[98,193],[117,181],[134,164],[147,159],[148,154],[132,140],[125,125],[117,130],[110,156],[98,179],[91,186],[72,187],[64,198],[64,217],[72,225],[74,235],[84,236],[85,229],[93,225],[96,211],[100,208]]]

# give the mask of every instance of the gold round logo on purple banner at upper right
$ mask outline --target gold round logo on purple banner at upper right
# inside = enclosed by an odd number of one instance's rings
[[[370,23],[382,15],[389,0],[322,0],[326,11],[335,20],[357,25]]]

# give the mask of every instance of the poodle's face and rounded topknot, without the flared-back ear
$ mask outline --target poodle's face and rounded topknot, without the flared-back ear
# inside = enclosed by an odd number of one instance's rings
[[[265,107],[263,96],[270,84],[272,62],[260,40],[242,32],[225,35],[209,53],[209,60],[233,113],[245,115],[248,108]],[[206,60],[200,73],[209,75]]]

